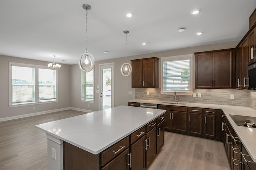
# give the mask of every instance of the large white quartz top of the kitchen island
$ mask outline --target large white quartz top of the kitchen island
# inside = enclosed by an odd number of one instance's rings
[[[98,154],[166,110],[118,106],[36,125],[49,135]]]

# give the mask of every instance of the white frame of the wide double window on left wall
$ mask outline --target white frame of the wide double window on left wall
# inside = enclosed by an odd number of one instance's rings
[[[12,104],[12,66],[35,68],[35,102],[28,102],[25,104]],[[9,107],[29,106],[29,105],[36,105],[36,104],[47,104],[47,103],[58,102],[58,70],[56,70],[56,100],[45,101],[45,102],[39,101],[39,82],[38,82],[39,68],[49,69],[47,66],[42,66],[42,65],[9,62]]]

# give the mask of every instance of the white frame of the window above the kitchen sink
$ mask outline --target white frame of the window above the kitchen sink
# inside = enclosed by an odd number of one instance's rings
[[[179,91],[179,90],[171,90],[169,92],[165,92],[163,90],[163,62],[165,61],[177,61],[177,60],[190,60],[190,88],[188,91]],[[161,57],[161,94],[173,95],[176,92],[177,95],[192,95],[193,94],[193,54],[187,55],[177,55],[177,56],[170,56],[170,57]]]

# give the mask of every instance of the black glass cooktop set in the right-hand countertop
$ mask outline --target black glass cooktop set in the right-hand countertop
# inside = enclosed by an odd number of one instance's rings
[[[240,115],[230,115],[233,121],[238,126],[245,126],[245,127],[256,127],[256,117],[251,116],[240,116]]]

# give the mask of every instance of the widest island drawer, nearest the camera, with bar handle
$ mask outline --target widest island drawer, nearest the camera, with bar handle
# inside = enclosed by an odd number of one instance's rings
[[[122,141],[114,144],[110,148],[106,149],[101,154],[101,165],[104,166],[118,154],[122,153],[126,148],[129,147],[129,137],[124,138]]]

